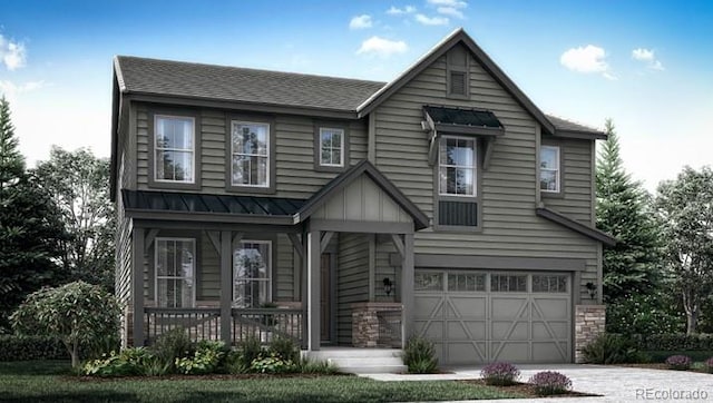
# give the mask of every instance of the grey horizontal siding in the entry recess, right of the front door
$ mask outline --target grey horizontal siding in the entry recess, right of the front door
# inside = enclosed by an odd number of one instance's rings
[[[352,304],[369,298],[368,234],[343,233],[339,237],[336,273],[336,336],[339,344],[352,343]]]

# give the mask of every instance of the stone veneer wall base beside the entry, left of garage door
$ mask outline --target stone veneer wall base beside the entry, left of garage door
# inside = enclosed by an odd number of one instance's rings
[[[401,344],[401,334],[390,340],[380,340],[379,312],[398,312],[400,303],[356,303],[352,304],[352,344],[354,347],[397,347]],[[401,321],[399,321],[401,322]],[[391,340],[398,338],[398,340]]]

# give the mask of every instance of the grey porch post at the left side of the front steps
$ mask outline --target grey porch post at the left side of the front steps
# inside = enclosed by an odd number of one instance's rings
[[[320,350],[320,254],[321,233],[307,233],[307,350]]]

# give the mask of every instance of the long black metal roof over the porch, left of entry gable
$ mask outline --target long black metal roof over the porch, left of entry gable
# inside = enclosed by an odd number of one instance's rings
[[[127,215],[145,219],[293,224],[305,199],[121,189]]]

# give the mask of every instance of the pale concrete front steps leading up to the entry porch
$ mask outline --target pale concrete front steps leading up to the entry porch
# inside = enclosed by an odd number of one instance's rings
[[[306,354],[312,360],[326,361],[336,365],[339,372],[350,374],[398,374],[407,371],[399,348],[328,347]]]

